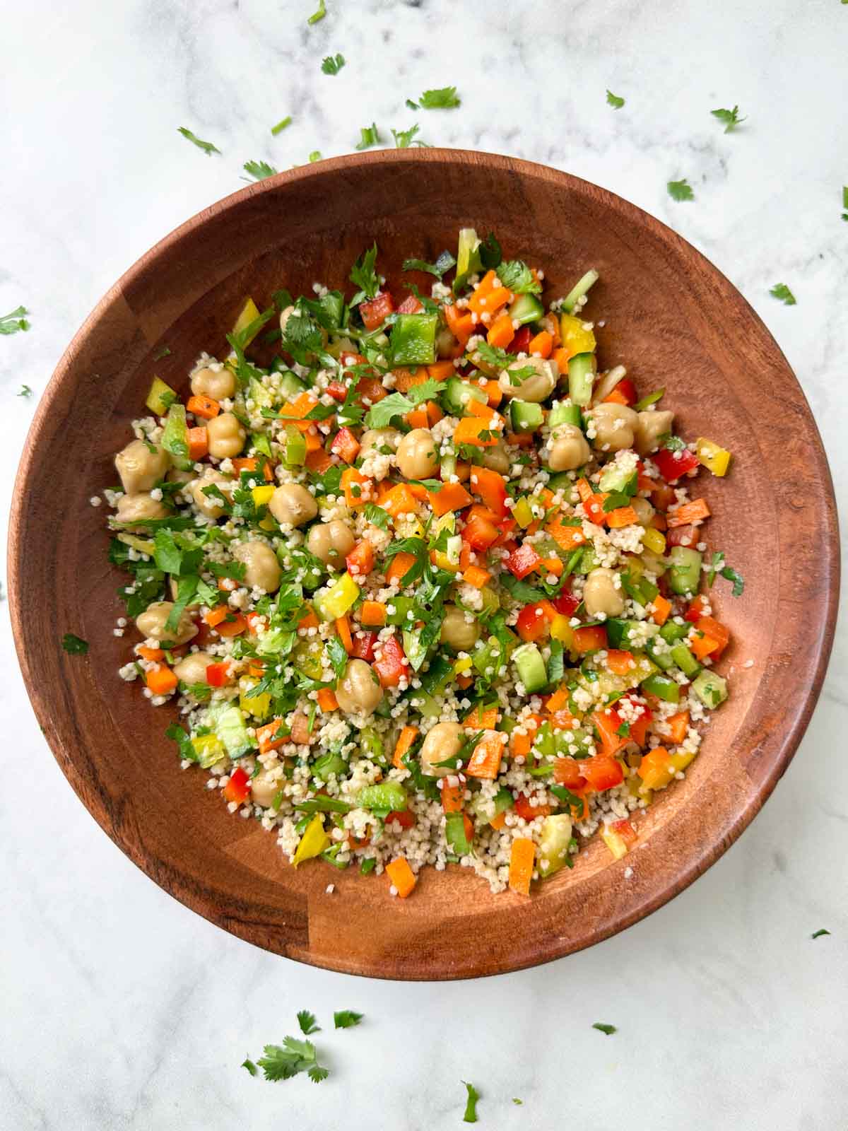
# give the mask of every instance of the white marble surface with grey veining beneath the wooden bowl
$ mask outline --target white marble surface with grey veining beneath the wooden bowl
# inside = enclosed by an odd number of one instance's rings
[[[418,120],[431,143],[596,181],[703,250],[772,329],[845,504],[848,181],[839,0],[3,0],[0,492],[72,333],[154,241],[241,187],[241,163],[348,152]],[[474,12],[474,14],[473,14]],[[337,77],[321,57],[343,52]],[[460,110],[407,96],[457,81]],[[614,111],[605,88],[626,97]],[[710,116],[738,103],[726,136]],[[292,113],[278,138],[269,127]],[[191,127],[223,156],[178,133]],[[693,204],[669,179],[687,176]],[[768,295],[787,283],[797,307]],[[23,382],[33,399],[18,398]],[[45,454],[45,458],[49,454]],[[59,486],[61,490],[61,486]],[[803,584],[803,581],[799,581]],[[845,629],[845,622],[842,622]],[[801,750],[753,827],[625,934],[488,982],[393,985],[242,943],[165,896],[97,829],[38,732],[0,605],[0,1128],[481,1125],[834,1131],[848,1125],[848,649],[838,638]],[[811,941],[817,927],[830,938]],[[323,1021],[331,1078],[239,1068]],[[366,1015],[328,1030],[331,1011]],[[590,1028],[618,1026],[614,1037]],[[517,1107],[511,1097],[519,1097]]]

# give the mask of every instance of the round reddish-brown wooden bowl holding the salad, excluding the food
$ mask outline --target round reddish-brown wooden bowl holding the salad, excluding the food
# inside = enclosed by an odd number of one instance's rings
[[[384,877],[288,866],[276,838],[231,817],[205,777],[182,772],[173,715],[122,682],[122,577],[106,561],[112,459],[144,415],[150,378],[184,388],[201,348],[245,295],[260,304],[313,280],[345,287],[377,239],[397,284],[403,259],[433,260],[457,230],[493,230],[509,257],[543,266],[546,293],[600,271],[590,311],[599,352],[641,392],[667,389],[683,434],[734,452],[727,480],[699,481],[710,544],[745,577],[720,582],[734,644],[729,702],[702,752],[638,820],[614,862],[595,839],[533,896],[493,896],[471,872],[422,873],[391,899]],[[407,276],[408,279],[408,276]],[[424,282],[424,279],[419,279]],[[171,353],[154,361],[167,346]],[[47,456],[49,454],[49,456]],[[59,475],[59,481],[57,481]],[[136,264],[77,334],[35,416],[11,515],[9,595],[18,656],[59,765],[103,829],[161,887],[233,934],[300,961],[390,978],[458,978],[533,966],[621,931],[700,875],[786,769],[821,688],[838,594],[836,506],[810,409],[780,349],[703,256],[618,197],[564,173],[459,150],[386,150],[325,161],[236,192]],[[87,657],[60,640],[75,632]],[[750,666],[746,666],[750,663]],[[632,873],[631,873],[632,870]],[[327,895],[328,883],[334,895]]]

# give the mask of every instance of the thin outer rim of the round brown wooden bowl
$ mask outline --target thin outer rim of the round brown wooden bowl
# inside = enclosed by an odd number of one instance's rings
[[[62,354],[53,375],[47,383],[44,395],[38,403],[24,446],[12,493],[8,546],[9,608],[15,646],[27,693],[33,705],[36,718],[41,724],[43,733],[47,737],[51,751],[59,762],[62,772],[66,775],[75,792],[101,828],[138,867],[140,867],[155,882],[159,883],[159,886],[163,887],[163,890],[166,890],[170,895],[175,896],[182,904],[202,915],[205,918],[216,923],[216,925],[224,926],[237,936],[251,941],[257,946],[271,949],[266,947],[265,941],[258,936],[258,931],[251,931],[250,923],[239,923],[237,916],[227,917],[220,908],[210,906],[209,903],[202,898],[202,896],[199,896],[197,892],[191,890],[191,886],[188,882],[184,882],[182,875],[178,875],[175,879],[172,877],[171,883],[167,887],[159,881],[154,874],[152,862],[145,855],[144,851],[141,851],[140,847],[137,847],[127,837],[122,836],[121,830],[115,827],[109,813],[107,806],[103,803],[102,798],[96,797],[94,794],[89,795],[89,797],[84,796],[69,774],[72,759],[63,749],[66,744],[62,742],[59,733],[57,719],[51,713],[50,690],[45,689],[40,681],[35,679],[35,673],[31,667],[29,657],[27,656],[24,647],[25,624],[21,618],[20,608],[24,578],[24,563],[21,561],[24,541],[20,537],[21,513],[27,501],[26,493],[31,470],[37,458],[36,454],[41,450],[40,440],[45,422],[53,411],[54,402],[57,400],[62,382],[70,372],[93,328],[97,326],[109,313],[113,304],[122,301],[121,296],[124,290],[131,287],[136,279],[148,271],[166,250],[171,249],[174,244],[179,244],[187,235],[193,233],[199,226],[205,225],[207,222],[216,217],[220,217],[231,209],[237,208],[237,206],[245,198],[260,193],[275,193],[282,187],[293,182],[312,180],[315,182],[317,190],[319,190],[320,182],[323,179],[331,180],[336,173],[345,169],[351,169],[352,166],[370,165],[374,166],[374,169],[379,166],[388,169],[390,166],[413,163],[423,165],[438,163],[474,163],[476,165],[484,165],[493,171],[497,170],[499,172],[508,172],[521,179],[538,179],[546,181],[555,187],[579,196],[592,195],[596,200],[600,199],[607,208],[628,218],[635,228],[640,226],[644,227],[654,236],[654,239],[665,244],[672,256],[678,257],[681,252],[685,251],[689,256],[698,257],[707,273],[712,275],[713,280],[719,283],[724,290],[733,292],[735,301],[742,304],[747,317],[752,319],[756,328],[761,331],[769,346],[773,349],[776,359],[782,362],[786,375],[791,379],[795,386],[801,415],[806,426],[806,439],[810,444],[808,459],[812,461],[814,470],[824,487],[824,498],[820,500],[822,504],[822,523],[819,530],[820,553],[817,561],[820,562],[820,578],[822,581],[821,592],[825,594],[825,599],[815,607],[813,620],[805,620],[803,630],[798,627],[794,631],[796,637],[801,636],[803,631],[805,639],[808,640],[811,637],[815,637],[817,639],[815,664],[811,665],[812,671],[804,673],[804,675],[810,680],[808,689],[794,715],[790,718],[782,719],[786,725],[780,729],[780,732],[778,733],[778,731],[772,729],[762,744],[762,751],[768,765],[768,771],[760,778],[758,788],[751,794],[747,803],[738,810],[732,823],[729,826],[725,826],[722,835],[712,841],[703,841],[701,846],[702,851],[700,853],[691,853],[685,861],[685,866],[683,866],[678,872],[673,873],[672,878],[669,878],[665,884],[657,887],[657,889],[654,890],[648,898],[643,899],[638,905],[634,905],[629,913],[622,914],[621,917],[611,921],[605,927],[599,930],[596,929],[595,931],[587,930],[586,938],[579,941],[578,944],[571,943],[566,946],[557,946],[557,940],[552,940],[548,941],[547,946],[538,949],[534,953],[523,957],[519,956],[516,960],[510,959],[507,961],[500,961],[494,967],[485,970],[475,970],[469,973],[467,969],[464,969],[460,974],[453,974],[449,969],[440,969],[424,975],[408,975],[408,977],[413,979],[430,981],[450,979],[453,977],[466,978],[487,976],[491,974],[523,969],[546,961],[552,961],[555,958],[581,950],[585,947],[594,946],[596,942],[600,942],[604,939],[625,930],[633,923],[644,918],[658,907],[668,903],[672,898],[674,898],[674,896],[678,895],[686,887],[689,887],[690,883],[701,875],[727,851],[727,848],[730,847],[730,845],[737,839],[737,837],[744,831],[744,829],[760,811],[763,803],[775,788],[778,779],[785,772],[789,761],[797,750],[817,701],[836,631],[840,558],[836,499],[827,456],[824,454],[821,437],[819,434],[813,414],[810,409],[810,405],[797,378],[789,366],[789,363],[763,321],[745,297],[733,286],[729,279],[727,279],[726,276],[722,275],[722,273],[719,271],[719,269],[710,260],[708,260],[706,256],[698,251],[698,249],[693,248],[692,244],[672,231],[672,228],[667,225],[663,224],[661,221],[657,219],[655,216],[643,211],[622,197],[592,184],[589,181],[573,176],[570,173],[561,172],[546,165],[521,158],[465,149],[387,149],[362,154],[349,154],[340,157],[328,158],[314,165],[295,167],[287,172],[278,173],[277,175],[268,178],[261,182],[250,184],[234,193],[231,193],[210,207],[205,208],[202,211],[196,214],[179,227],[174,228],[168,235],[164,236],[164,239],[158,241],[144,256],[141,256],[140,259],[138,259],[99,300],[92,313],[83,322],[80,329],[73,336],[70,345]],[[750,710],[754,709],[756,697],[754,698]],[[392,975],[381,973],[379,969],[352,969],[351,967],[346,967],[340,964],[335,965],[332,961],[314,959],[309,953],[293,957],[296,961],[304,961],[309,965],[317,965],[326,969],[337,970],[338,973],[357,973],[361,976],[381,978],[393,977]],[[399,979],[399,977],[401,976],[397,976],[396,979]],[[404,975],[404,977],[406,976]]]

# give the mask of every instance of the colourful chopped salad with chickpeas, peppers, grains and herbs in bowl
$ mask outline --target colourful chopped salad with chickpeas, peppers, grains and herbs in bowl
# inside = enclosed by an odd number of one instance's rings
[[[730,452],[598,370],[597,273],[543,301],[465,228],[425,296],[377,254],[355,294],[248,299],[185,397],[153,378],[105,492],[121,675],[293,864],[527,895],[598,828],[623,856],[727,698],[709,586],[744,582],[690,490]]]

